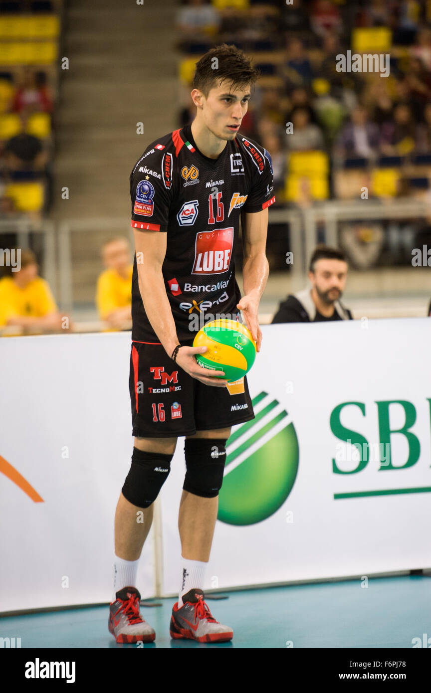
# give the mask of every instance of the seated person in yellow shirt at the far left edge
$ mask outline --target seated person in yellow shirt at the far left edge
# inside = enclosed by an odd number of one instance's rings
[[[64,315],[49,288],[37,276],[38,266],[32,250],[21,250],[20,269],[0,279],[0,328],[17,326],[24,331],[60,330]]]

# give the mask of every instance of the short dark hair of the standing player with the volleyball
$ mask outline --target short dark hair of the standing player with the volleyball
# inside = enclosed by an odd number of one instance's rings
[[[217,58],[217,63],[213,62],[214,58]],[[253,67],[251,58],[234,45],[221,44],[202,55],[196,63],[191,87],[200,89],[206,97],[217,81],[221,84],[226,80],[232,82],[232,87],[240,88],[254,85],[258,77],[259,71]]]

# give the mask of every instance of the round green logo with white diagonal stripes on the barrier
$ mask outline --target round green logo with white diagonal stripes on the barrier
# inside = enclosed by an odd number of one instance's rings
[[[267,392],[252,403],[255,418],[234,427],[226,445],[218,519],[228,525],[254,525],[273,515],[298,471],[298,439],[288,412]]]

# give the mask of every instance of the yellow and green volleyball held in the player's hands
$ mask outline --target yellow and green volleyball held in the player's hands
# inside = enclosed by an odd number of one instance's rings
[[[222,370],[222,380],[239,380],[248,373],[256,358],[256,342],[245,325],[236,320],[219,319],[207,322],[197,333],[193,347],[208,347],[205,353],[195,354],[202,368]]]

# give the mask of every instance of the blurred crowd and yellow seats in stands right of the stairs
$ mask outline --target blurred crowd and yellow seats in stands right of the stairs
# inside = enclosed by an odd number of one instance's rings
[[[240,132],[272,155],[276,206],[358,201],[364,188],[376,202],[431,202],[429,1],[188,0],[177,26],[180,125],[194,117],[191,78],[201,55],[234,42],[254,58],[261,79]],[[337,71],[348,51],[387,55],[389,74]],[[389,264],[405,264],[428,226],[360,222],[344,229],[344,247],[355,267],[383,258],[384,246]],[[361,254],[362,245],[370,252]]]

